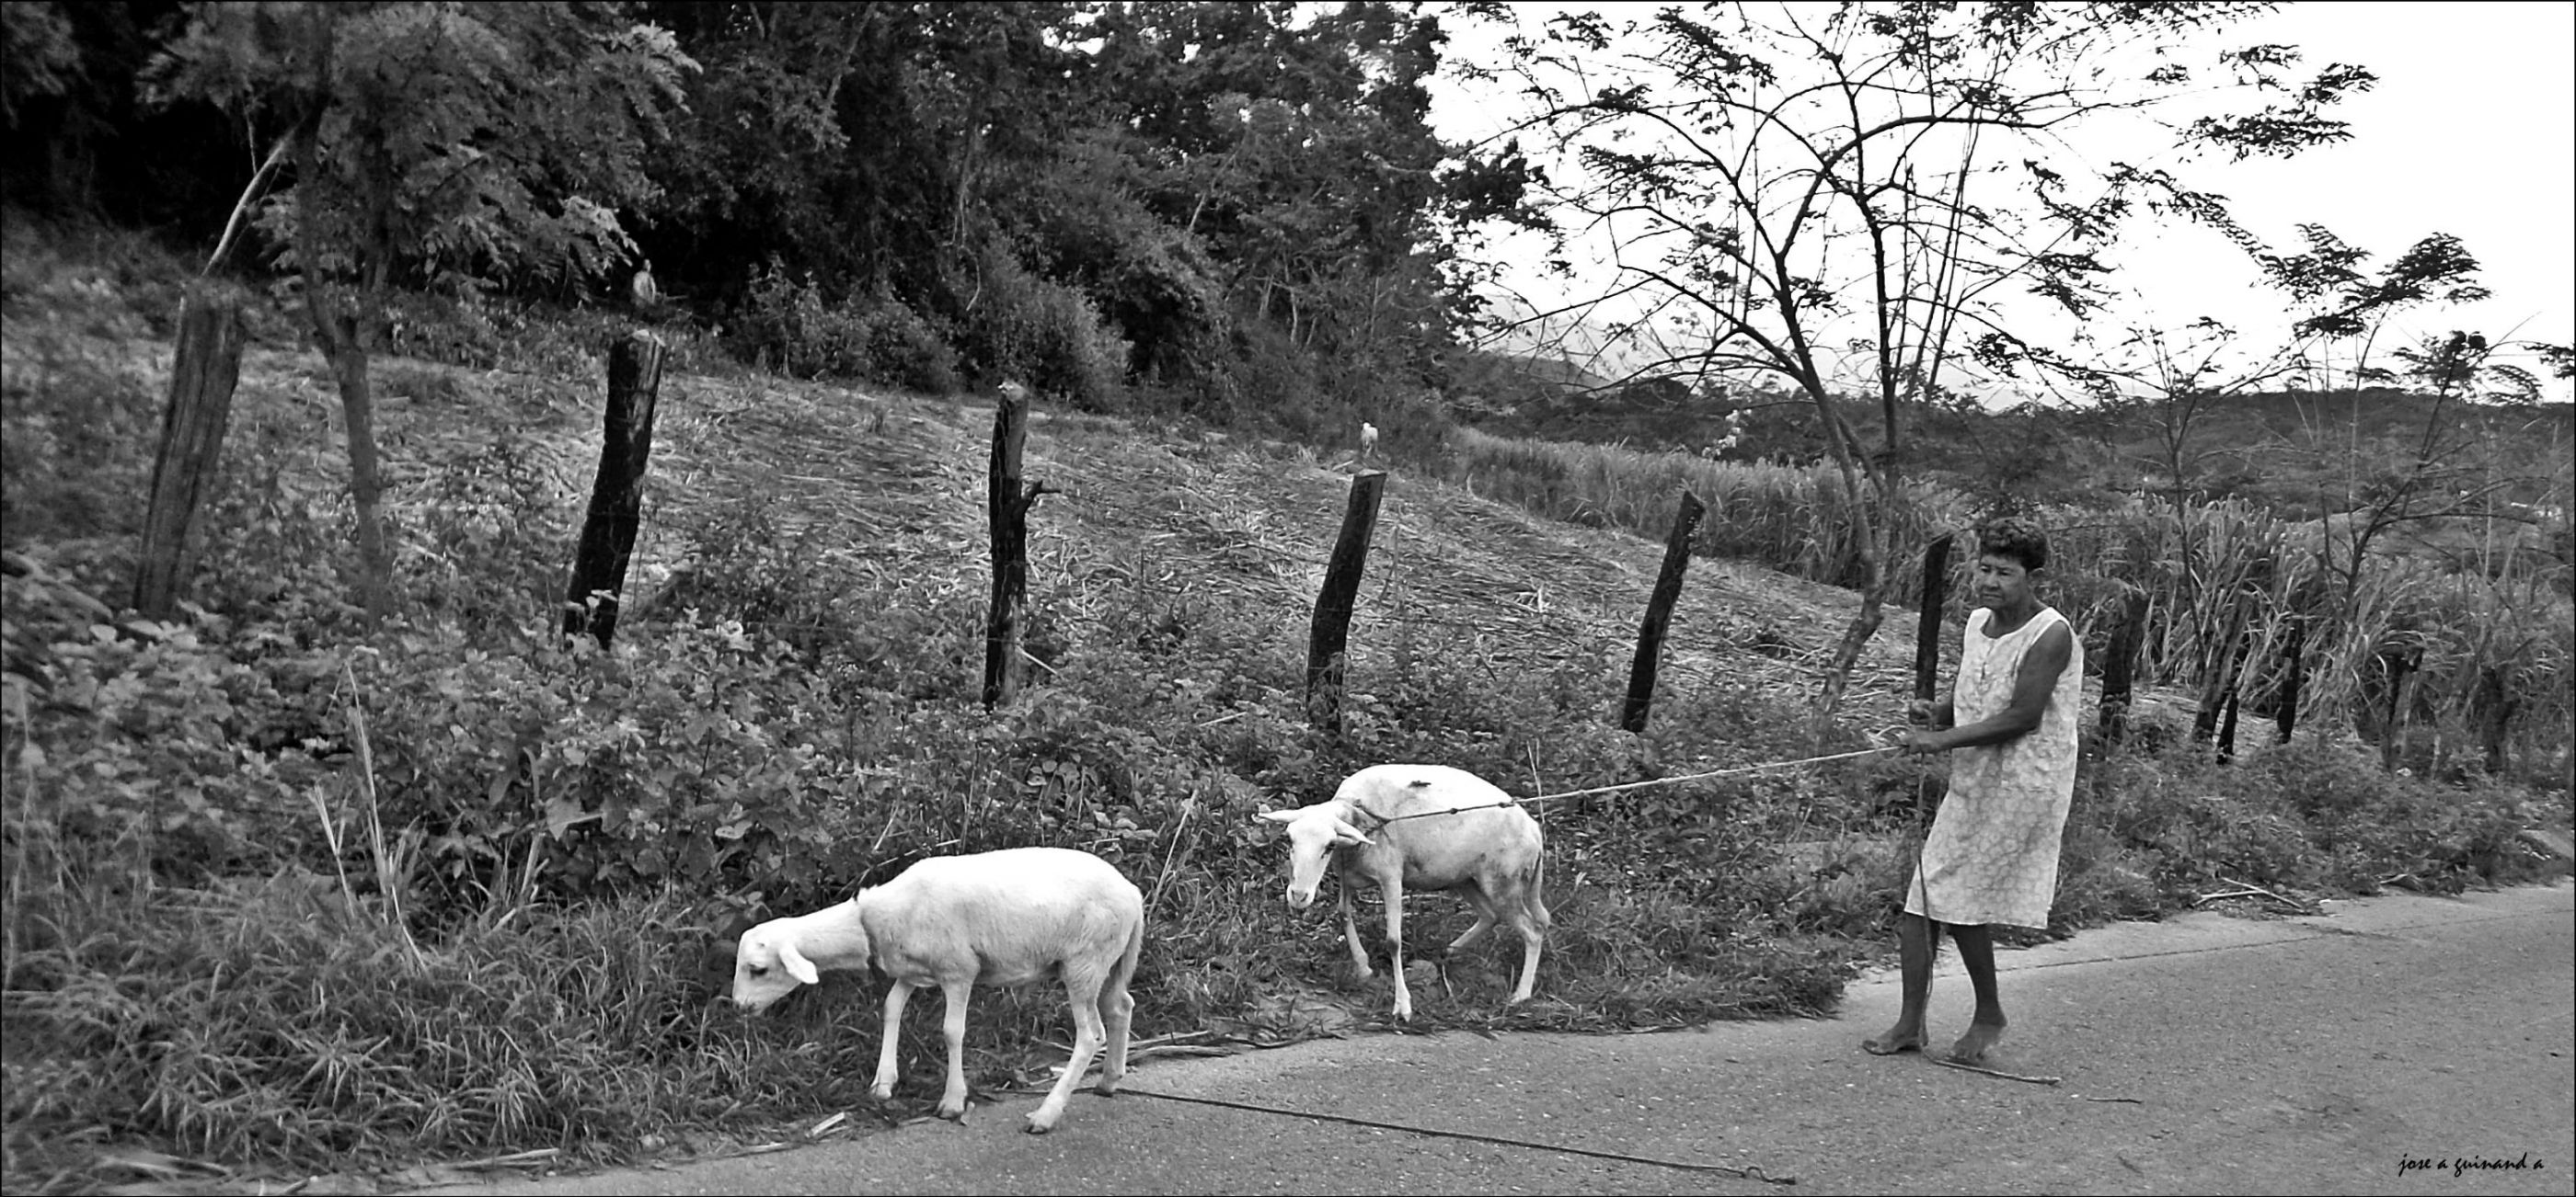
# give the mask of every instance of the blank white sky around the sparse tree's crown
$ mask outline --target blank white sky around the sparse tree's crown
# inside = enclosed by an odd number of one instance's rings
[[[1522,21],[1556,8],[1613,18],[1654,10],[1520,5]],[[1489,51],[1489,33],[1445,26],[1450,54]],[[2313,221],[2372,250],[2365,268],[2434,232],[2460,237],[2494,299],[2401,314],[2383,350],[2447,329],[2576,345],[2576,5],[2306,0],[2228,33],[2233,44],[2257,39],[2300,46],[2303,72],[2352,62],[2378,72],[2378,85],[2339,106],[2349,142],[2293,160],[2202,162],[2190,167],[2195,185],[2228,196],[2239,221],[2275,250],[2300,250],[2298,224]],[[1445,139],[1479,142],[1512,111],[1515,98],[1445,80],[1432,121]],[[1510,257],[1535,260],[1535,245],[1512,245]],[[2257,268],[2213,232],[2164,229],[2115,263],[2159,324],[2215,317],[2262,345],[2287,335],[2285,299],[2262,291]],[[1507,275],[1538,301],[1561,296],[1561,283],[1535,270]],[[2494,360],[2548,376],[2530,353]],[[2545,399],[2571,402],[2576,384],[2548,381]]]

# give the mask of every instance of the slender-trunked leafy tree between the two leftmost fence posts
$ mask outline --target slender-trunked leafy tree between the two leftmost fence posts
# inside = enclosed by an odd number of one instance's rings
[[[348,430],[361,597],[394,605],[368,353],[394,286],[574,286],[626,263],[616,209],[696,67],[670,33],[572,3],[198,5],[155,62],[160,103],[201,100],[294,183],[258,227],[304,291]]]

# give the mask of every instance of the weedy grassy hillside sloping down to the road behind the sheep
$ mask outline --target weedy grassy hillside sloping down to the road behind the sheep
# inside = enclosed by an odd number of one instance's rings
[[[1043,404],[1033,687],[987,713],[989,407],[742,371],[677,329],[636,605],[616,651],[564,646],[600,324],[562,314],[376,363],[407,610],[368,626],[330,378],[255,311],[196,608],[137,620],[116,608],[175,278],[129,239],[10,229],[0,255],[10,1192],[729,1151],[824,1107],[884,1125],[927,1102],[935,1004],[914,1004],[909,1081],[876,1117],[873,1032],[853,1032],[873,986],[742,1019],[716,1001],[719,942],[1007,844],[1084,847],[1146,891],[1146,1068],[1394,1030],[1383,976],[1337,976],[1329,916],[1280,901],[1255,811],[1373,762],[1538,795],[1850,752],[1899,721],[1901,613],[1814,728],[1852,597],[1703,559],[1649,736],[1613,731],[1662,548],[1494,502],[1517,481],[1492,471],[1437,481],[1455,445],[1399,438],[1350,728],[1311,731],[1303,633],[1350,461]],[[2566,821],[2563,795],[2388,777],[2331,741],[2231,770],[2146,741],[2087,765],[2058,934],[2218,878],[2517,878],[2535,865],[2514,831]],[[1538,999],[1504,1007],[1517,952],[1479,947],[1414,986],[1414,1027],[1829,1009],[1888,945],[1937,788],[1937,767],[1875,757],[1546,803]],[[1417,945],[1463,924],[1453,898],[1412,904]],[[971,1071],[1043,1081],[1061,1037],[1048,994],[979,999]]]

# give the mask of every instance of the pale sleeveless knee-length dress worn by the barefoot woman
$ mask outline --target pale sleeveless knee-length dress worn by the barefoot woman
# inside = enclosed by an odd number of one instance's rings
[[[2007,636],[1986,636],[1994,613],[1968,613],[1968,633],[1958,654],[1958,682],[1950,690],[1955,726],[1991,718],[2012,705],[2012,682],[2022,654],[2040,633],[2074,626],[2056,608],[2040,608]],[[2076,710],[2084,700],[2084,638],[2048,710],[2030,734],[1976,749],[1950,752],[1950,795],[1942,798],[1932,831],[1924,837],[1906,914],[1960,927],[2012,924],[2048,927],[2048,904],[2058,891],[2058,839],[2066,808],[2076,795]]]

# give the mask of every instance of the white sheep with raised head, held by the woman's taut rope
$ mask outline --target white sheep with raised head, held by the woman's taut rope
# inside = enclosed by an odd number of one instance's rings
[[[1476,924],[1448,945],[1450,952],[1481,940],[1494,922],[1510,922],[1522,942],[1512,1001],[1528,1001],[1548,929],[1546,844],[1538,819],[1512,806],[1512,795],[1494,783],[1445,765],[1373,765],[1342,780],[1329,803],[1262,811],[1260,819],[1288,824],[1288,906],[1303,911],[1314,904],[1327,862],[1340,873],[1342,940],[1360,976],[1370,970],[1350,888],[1352,878],[1378,886],[1394,952],[1396,1019],[1414,1017],[1414,996],[1404,986],[1406,888],[1458,891],[1476,909]]]

